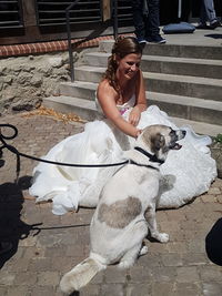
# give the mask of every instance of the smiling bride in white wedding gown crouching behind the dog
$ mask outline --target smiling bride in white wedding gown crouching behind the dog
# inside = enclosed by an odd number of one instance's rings
[[[157,106],[147,109],[145,89],[138,41],[119,39],[108,60],[108,69],[97,91],[101,120],[85,124],[84,132],[63,140],[46,155],[47,160],[80,164],[117,163],[124,160],[141,129],[165,124],[176,129]],[[185,127],[184,127],[185,129]],[[163,181],[158,207],[178,207],[208,191],[216,176],[215,162],[208,154],[211,139],[186,127],[180,151],[169,153],[161,166]],[[40,163],[34,169],[30,194],[37,202],[52,200],[54,214],[78,205],[97,206],[104,183],[119,166],[80,169]]]

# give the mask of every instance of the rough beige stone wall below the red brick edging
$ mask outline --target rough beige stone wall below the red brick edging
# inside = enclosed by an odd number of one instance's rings
[[[81,63],[82,52],[74,52]],[[0,60],[0,114],[38,108],[42,99],[60,94],[60,82],[70,80],[68,52]]]

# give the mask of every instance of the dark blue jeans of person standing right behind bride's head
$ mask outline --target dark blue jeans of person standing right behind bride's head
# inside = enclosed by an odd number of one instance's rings
[[[148,1],[148,14],[144,14],[144,0],[132,0],[133,23],[138,39],[160,33],[160,1]]]

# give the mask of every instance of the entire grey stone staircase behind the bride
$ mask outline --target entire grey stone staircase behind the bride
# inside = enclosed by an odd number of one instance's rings
[[[113,41],[101,41],[75,68],[75,82],[61,83],[60,96],[43,104],[60,112],[74,112],[87,120],[97,116],[94,95],[107,67]],[[148,44],[141,69],[148,104],[157,104],[174,122],[192,124],[198,133],[222,133],[222,48]]]

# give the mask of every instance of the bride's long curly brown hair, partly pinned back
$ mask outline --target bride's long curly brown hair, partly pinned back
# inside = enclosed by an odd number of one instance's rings
[[[113,44],[112,54],[108,58],[108,68],[103,75],[111,86],[114,88],[117,92],[120,92],[120,88],[115,78],[115,72],[118,69],[117,58],[123,59],[130,53],[141,54],[142,48],[134,37],[119,37]]]

